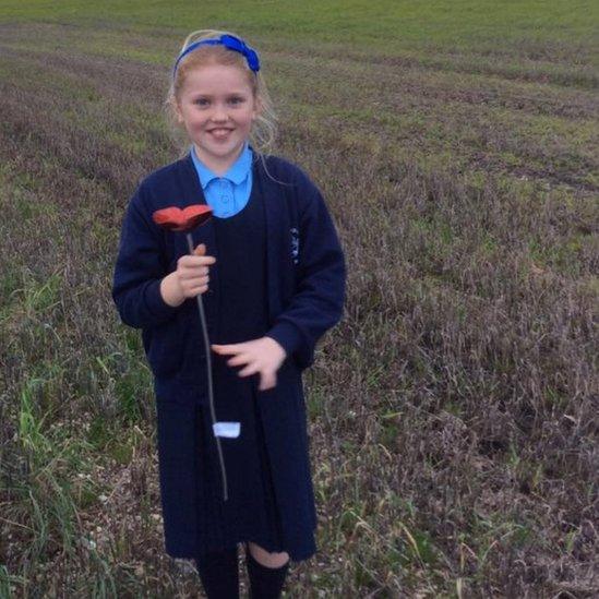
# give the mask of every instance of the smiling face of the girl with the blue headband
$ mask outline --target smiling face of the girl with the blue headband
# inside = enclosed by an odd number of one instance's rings
[[[238,158],[260,113],[247,73],[223,64],[190,71],[176,108],[197,157],[217,175]]]

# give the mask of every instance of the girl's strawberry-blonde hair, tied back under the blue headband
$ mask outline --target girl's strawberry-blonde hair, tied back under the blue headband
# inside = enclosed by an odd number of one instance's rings
[[[215,29],[200,29],[188,35],[181,47],[181,52],[194,41],[201,39],[217,38],[221,35],[238,35],[231,32],[218,32]],[[179,55],[178,55],[179,56]],[[266,88],[262,72],[254,73],[249,67],[245,57],[240,52],[231,51],[223,45],[200,46],[181,59],[177,67],[175,76],[170,75],[170,86],[165,101],[165,112],[170,134],[179,146],[181,157],[187,154],[189,148],[189,139],[183,125],[177,119],[177,100],[185,82],[188,74],[199,67],[206,64],[223,64],[226,67],[238,67],[247,73],[248,82],[252,88],[254,99],[260,101],[262,110],[256,117],[250,132],[250,143],[256,154],[263,158],[263,154],[268,153],[276,137],[277,117],[273,108],[273,103]]]

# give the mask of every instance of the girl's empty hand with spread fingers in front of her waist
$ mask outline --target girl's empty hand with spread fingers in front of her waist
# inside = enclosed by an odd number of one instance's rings
[[[277,370],[287,356],[285,349],[272,337],[260,337],[242,344],[213,344],[212,349],[219,356],[233,356],[227,360],[228,366],[247,364],[243,370],[238,372],[238,376],[249,376],[259,372],[260,391],[276,386]]]

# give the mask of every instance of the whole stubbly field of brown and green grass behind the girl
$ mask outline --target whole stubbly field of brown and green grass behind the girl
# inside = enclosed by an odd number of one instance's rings
[[[319,553],[286,596],[599,595],[597,4],[4,0],[0,597],[199,594],[110,287],[204,27],[260,51],[273,152],[349,265],[304,375]]]

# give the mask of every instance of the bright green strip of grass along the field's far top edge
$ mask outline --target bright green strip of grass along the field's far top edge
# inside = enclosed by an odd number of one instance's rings
[[[185,0],[168,5],[139,0],[127,5],[116,0],[101,5],[81,1],[53,5],[46,0],[29,0],[23,4],[8,0],[1,14],[7,22],[13,23],[74,22],[92,24],[97,29],[109,29],[111,22],[117,22],[122,27],[133,25],[143,33],[158,29],[161,35],[167,28],[188,28],[194,20],[214,23],[215,27],[230,26],[235,22],[244,32],[260,35],[276,29],[280,38],[302,43],[306,39],[340,40],[352,47],[369,48],[373,43],[384,40],[391,51],[415,46],[436,49],[444,45],[471,50],[479,48],[481,43],[489,49],[500,40],[502,44],[495,51],[510,53],[512,44],[524,38],[531,45],[549,41],[555,53],[570,56],[573,45],[575,49],[585,48],[585,44],[591,41],[598,10],[586,0],[554,0],[550,4],[459,0],[451,5],[440,0],[428,3],[376,0],[368,5],[357,0],[327,0],[325,3],[310,0],[301,5],[284,0],[277,2],[277,10],[273,10],[272,2],[250,0],[240,0],[235,7],[223,7],[209,0],[201,10]],[[400,27],[400,35],[397,35],[397,27]],[[572,33],[579,35],[574,44]],[[539,53],[543,56],[547,50]]]

